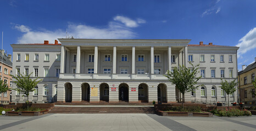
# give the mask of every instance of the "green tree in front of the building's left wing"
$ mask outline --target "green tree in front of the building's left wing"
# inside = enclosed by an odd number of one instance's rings
[[[16,84],[16,88],[14,90],[27,96],[27,110],[29,110],[29,93],[34,91],[36,85],[42,80],[38,80],[39,78],[31,79],[30,76],[32,73],[26,76],[25,74],[21,74],[19,70],[18,72],[20,74],[19,76],[10,75],[15,79],[15,81],[13,81]]]

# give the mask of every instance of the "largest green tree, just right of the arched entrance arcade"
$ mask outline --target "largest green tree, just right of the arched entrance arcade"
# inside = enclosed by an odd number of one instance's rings
[[[194,91],[194,89],[197,89],[199,86],[197,85],[197,81],[201,79],[201,76],[197,77],[197,73],[199,73],[199,64],[196,66],[193,66],[192,63],[190,63],[192,68],[187,68],[185,66],[179,66],[179,68],[174,67],[174,72],[170,72],[170,70],[167,71],[166,78],[171,82],[172,85],[176,85],[176,88],[182,93],[182,108],[184,106],[185,101],[185,92]]]

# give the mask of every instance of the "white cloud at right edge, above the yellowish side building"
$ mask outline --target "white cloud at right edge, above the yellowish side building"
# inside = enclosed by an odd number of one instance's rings
[[[242,55],[249,50],[256,48],[256,27],[251,29],[244,37],[239,40],[239,43],[236,45],[239,48],[237,51],[237,58],[242,58]]]

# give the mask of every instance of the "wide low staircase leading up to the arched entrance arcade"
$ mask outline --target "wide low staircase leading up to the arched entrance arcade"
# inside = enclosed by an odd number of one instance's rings
[[[79,107],[79,106],[55,106],[49,113],[57,114],[103,114],[103,113],[141,113],[141,114],[154,114],[153,106],[143,107]]]

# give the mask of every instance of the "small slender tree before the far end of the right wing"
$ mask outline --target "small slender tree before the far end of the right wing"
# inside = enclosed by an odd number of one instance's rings
[[[228,107],[228,109],[229,109],[229,95],[233,94],[236,91],[236,87],[235,87],[236,84],[237,84],[236,79],[231,81],[230,83],[227,82],[227,80],[223,81],[222,79],[221,79],[221,82],[220,82],[220,85],[221,85],[220,88],[223,91],[225,91],[226,94],[227,94],[227,107]]]

